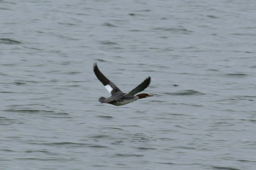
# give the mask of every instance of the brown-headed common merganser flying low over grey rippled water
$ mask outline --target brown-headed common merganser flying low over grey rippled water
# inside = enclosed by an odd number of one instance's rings
[[[147,86],[150,83],[150,77],[146,78],[139,86],[131,90],[131,92],[124,93],[115,84],[113,84],[110,80],[108,80],[108,78],[106,78],[105,75],[102,74],[102,72],[99,71],[97,63],[94,63],[93,71],[96,77],[99,79],[99,81],[102,82],[102,84],[111,94],[111,97],[109,98],[100,97],[99,98],[100,103],[108,103],[108,104],[113,104],[115,106],[122,106],[128,103],[131,103],[133,101],[136,101],[140,98],[147,98],[147,97],[153,96],[153,95],[148,95],[147,93],[141,93],[139,95],[135,95],[136,93],[141,92],[145,88],[147,88]]]

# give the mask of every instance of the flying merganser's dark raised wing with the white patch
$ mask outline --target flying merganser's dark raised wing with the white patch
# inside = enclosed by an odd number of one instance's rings
[[[102,84],[106,87],[106,89],[108,90],[108,92],[110,92],[111,95],[113,95],[114,92],[121,92],[121,90],[118,89],[118,87],[115,84],[108,80],[108,78],[106,78],[105,75],[103,75],[102,72],[99,71],[97,63],[94,63],[93,71],[96,77],[99,79],[100,82],[102,82]]]

